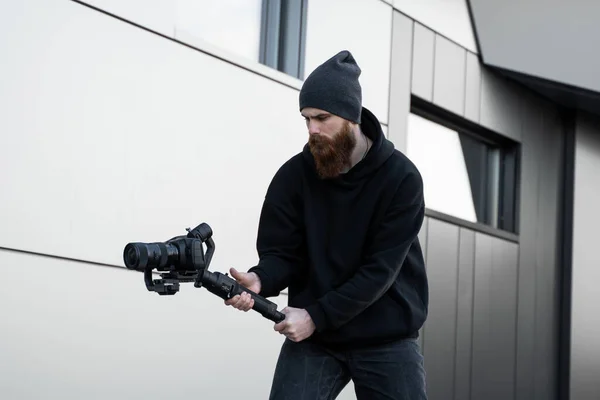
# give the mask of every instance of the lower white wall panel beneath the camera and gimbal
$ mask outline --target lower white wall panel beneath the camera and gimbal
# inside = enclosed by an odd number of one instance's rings
[[[3,399],[268,397],[281,337],[257,313],[204,289],[160,297],[137,272],[13,251],[0,250],[0,274]]]

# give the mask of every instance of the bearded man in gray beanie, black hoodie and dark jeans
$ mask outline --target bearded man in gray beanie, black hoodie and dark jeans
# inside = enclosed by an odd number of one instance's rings
[[[289,289],[271,399],[332,399],[350,380],[358,399],[426,399],[423,183],[362,106],[360,74],[342,51],[305,80],[308,143],[267,190],[258,264],[230,270],[264,297]],[[254,305],[246,294],[226,304]]]

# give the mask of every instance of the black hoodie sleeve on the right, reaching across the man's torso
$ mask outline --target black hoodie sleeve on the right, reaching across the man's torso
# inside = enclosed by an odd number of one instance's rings
[[[398,277],[424,216],[422,178],[414,172],[399,185],[363,265],[344,284],[306,307],[318,332],[339,328],[383,296]]]

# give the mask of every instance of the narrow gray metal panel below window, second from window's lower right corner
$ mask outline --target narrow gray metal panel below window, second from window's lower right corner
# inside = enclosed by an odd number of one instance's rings
[[[475,234],[475,290],[473,296],[473,348],[471,365],[471,398],[500,399],[495,394],[495,360],[491,342],[492,329],[492,246],[493,239]],[[504,400],[504,399],[502,399]]]

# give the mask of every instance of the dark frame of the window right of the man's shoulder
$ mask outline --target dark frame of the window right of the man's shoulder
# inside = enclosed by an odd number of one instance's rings
[[[471,222],[428,208],[426,208],[426,215],[455,225],[464,226],[479,232],[518,242],[520,221],[521,144],[414,95],[411,96],[410,113],[454,130],[458,132],[459,135],[468,136],[478,142],[501,150],[500,171],[498,176],[500,181],[500,193],[496,199],[498,203],[498,218],[493,224],[480,221]],[[409,134],[410,132],[408,132],[407,125],[407,137]],[[489,175],[486,176],[486,181],[489,181]]]

